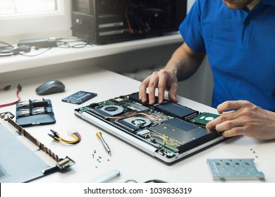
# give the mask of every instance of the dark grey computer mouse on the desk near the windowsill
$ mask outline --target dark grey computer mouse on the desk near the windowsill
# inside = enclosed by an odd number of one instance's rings
[[[59,80],[51,80],[41,84],[35,91],[38,95],[55,94],[65,91],[65,85]]]

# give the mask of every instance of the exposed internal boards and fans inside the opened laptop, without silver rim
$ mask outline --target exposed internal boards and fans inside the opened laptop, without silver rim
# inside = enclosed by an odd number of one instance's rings
[[[156,153],[173,158],[192,149],[196,141],[205,141],[205,136],[219,137],[217,132],[209,132],[192,121],[200,112],[164,101],[149,105],[140,103],[138,93],[111,98],[99,103],[75,109],[75,115],[97,117],[121,132],[139,139],[156,148]],[[95,124],[94,124],[95,125]]]

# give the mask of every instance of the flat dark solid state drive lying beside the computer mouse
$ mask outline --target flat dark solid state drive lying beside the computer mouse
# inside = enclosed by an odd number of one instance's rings
[[[75,94],[63,98],[62,101],[79,105],[81,103],[84,103],[85,101],[90,100],[91,98],[94,98],[94,96],[97,96],[97,94],[88,91],[78,91]]]

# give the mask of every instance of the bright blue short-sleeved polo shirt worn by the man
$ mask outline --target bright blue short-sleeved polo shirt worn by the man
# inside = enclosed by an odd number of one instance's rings
[[[207,53],[214,77],[212,106],[247,100],[275,111],[275,1],[252,11],[197,0],[180,25],[194,51]]]

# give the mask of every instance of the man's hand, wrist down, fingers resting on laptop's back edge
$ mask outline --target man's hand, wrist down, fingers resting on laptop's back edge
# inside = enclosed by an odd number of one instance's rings
[[[164,101],[165,89],[169,91],[169,100],[177,103],[176,91],[178,90],[178,80],[173,72],[165,69],[153,72],[140,84],[140,101],[147,101],[146,89],[149,89],[149,104],[155,102],[162,103]],[[155,91],[158,89],[159,101],[154,101]]]

